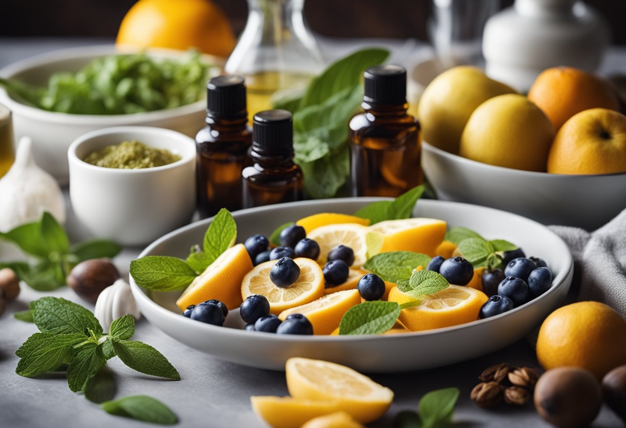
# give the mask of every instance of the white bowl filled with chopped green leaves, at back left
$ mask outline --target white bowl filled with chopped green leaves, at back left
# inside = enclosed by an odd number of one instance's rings
[[[0,69],[0,77],[17,78],[26,83],[46,86],[48,78],[56,71],[78,71],[93,59],[116,53],[129,53],[128,49],[108,46],[85,46],[61,49],[23,59]],[[148,49],[155,58],[181,58],[185,53],[170,49]],[[221,66],[223,59],[203,56],[207,63]],[[79,136],[107,126],[159,126],[193,136],[204,124],[206,101],[168,110],[156,110],[131,115],[69,115],[41,110],[13,99],[0,88],[0,103],[13,111],[16,141],[24,135],[33,139],[35,161],[51,173],[61,185],[68,183],[67,150]]]

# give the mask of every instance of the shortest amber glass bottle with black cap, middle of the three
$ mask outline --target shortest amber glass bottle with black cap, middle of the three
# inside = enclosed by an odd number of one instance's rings
[[[294,163],[293,125],[287,110],[254,116],[252,161],[242,171],[244,208],[302,199],[302,170]]]

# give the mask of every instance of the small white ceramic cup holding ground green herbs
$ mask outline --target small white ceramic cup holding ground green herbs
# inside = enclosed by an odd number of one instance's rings
[[[169,165],[124,170],[83,161],[89,153],[137,140],[180,155]],[[120,126],[91,131],[68,149],[69,197],[90,235],[121,245],[145,245],[186,225],[195,210],[195,141],[177,131]]]

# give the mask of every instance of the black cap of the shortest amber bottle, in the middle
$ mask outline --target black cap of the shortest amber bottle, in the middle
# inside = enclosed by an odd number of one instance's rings
[[[254,115],[252,148],[265,153],[294,153],[294,126],[287,110],[265,110]]]

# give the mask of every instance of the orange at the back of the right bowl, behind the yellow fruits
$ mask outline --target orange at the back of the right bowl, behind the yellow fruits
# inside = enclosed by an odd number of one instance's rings
[[[580,111],[619,109],[615,92],[603,79],[572,67],[544,70],[530,87],[528,99],[543,110],[556,131]]]

